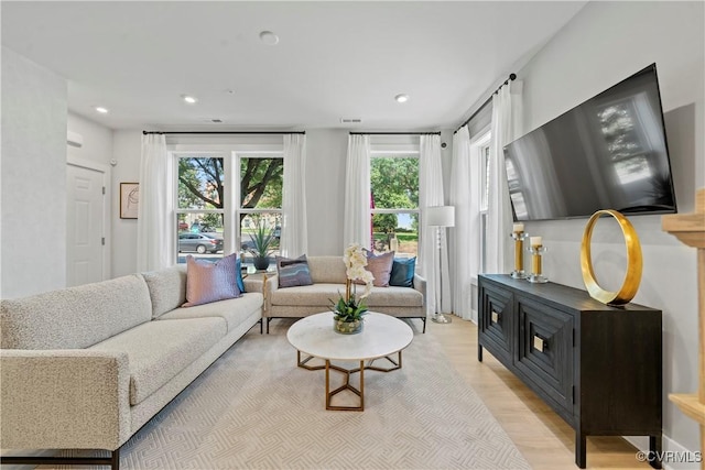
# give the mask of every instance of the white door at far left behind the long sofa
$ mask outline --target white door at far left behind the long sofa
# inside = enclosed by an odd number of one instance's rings
[[[105,250],[105,173],[67,165],[66,284],[102,281]]]

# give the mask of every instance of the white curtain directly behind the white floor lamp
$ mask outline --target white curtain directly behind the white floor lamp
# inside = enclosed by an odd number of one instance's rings
[[[419,247],[419,273],[426,280],[426,314],[443,313],[444,307],[449,311],[448,305],[441,299],[449,299],[451,286],[447,282],[447,245],[445,231],[441,229],[441,254],[437,245],[437,228],[430,227],[424,220],[424,210],[427,207],[444,206],[443,201],[443,172],[441,167],[441,135],[421,135],[419,159],[419,207],[421,208],[421,237]],[[443,264],[440,262],[445,260]],[[438,289],[441,273],[443,277],[442,295]]]

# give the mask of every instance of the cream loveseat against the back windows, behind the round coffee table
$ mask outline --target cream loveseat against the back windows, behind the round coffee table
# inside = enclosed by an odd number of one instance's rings
[[[264,293],[264,318],[267,332],[273,318],[301,318],[328,311],[332,300],[345,292],[346,267],[343,256],[307,256],[311,285],[282,288],[272,276],[267,282]],[[367,297],[371,311],[392,315],[398,318],[417,318],[426,331],[426,281],[413,274],[411,286],[372,287]],[[364,286],[358,286],[359,292]]]

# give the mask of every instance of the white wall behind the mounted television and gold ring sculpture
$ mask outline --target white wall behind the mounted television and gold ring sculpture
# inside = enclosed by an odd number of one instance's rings
[[[693,210],[705,187],[704,3],[590,2],[524,68],[524,132],[657,63],[680,212]],[[698,450],[698,428],[669,401],[697,390],[695,250],[661,230],[661,217],[631,217],[643,252],[643,278],[633,302],[663,310],[663,431],[666,449]],[[549,248],[551,281],[584,288],[581,238],[586,220],[533,222]],[[600,220],[593,237],[600,284],[621,284],[626,254],[616,223]],[[608,364],[606,364],[608,367]]]

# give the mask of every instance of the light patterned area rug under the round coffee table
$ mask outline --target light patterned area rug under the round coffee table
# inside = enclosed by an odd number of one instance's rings
[[[414,335],[402,369],[365,374],[364,412],[333,412],[325,371],[297,368],[284,330],[248,332],[123,446],[120,468],[530,468],[432,335]]]

